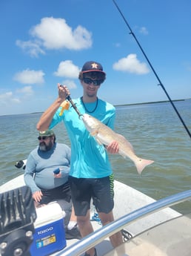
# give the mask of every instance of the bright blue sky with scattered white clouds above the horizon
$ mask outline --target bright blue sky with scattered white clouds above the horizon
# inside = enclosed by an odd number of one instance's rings
[[[115,0],[171,99],[191,98],[191,1]],[[84,62],[107,79],[113,105],[167,100],[113,0],[0,1],[0,115],[45,111],[58,96],[82,95]]]

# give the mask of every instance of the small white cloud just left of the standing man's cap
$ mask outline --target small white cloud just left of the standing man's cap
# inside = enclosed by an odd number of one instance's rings
[[[80,69],[73,64],[71,60],[60,62],[58,70],[54,73],[55,76],[67,77],[67,78],[78,78]]]

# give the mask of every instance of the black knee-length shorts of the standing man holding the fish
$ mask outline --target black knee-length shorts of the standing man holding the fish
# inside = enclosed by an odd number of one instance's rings
[[[108,177],[87,179],[69,176],[73,206],[77,216],[85,216],[90,209],[90,201],[96,211],[109,213],[113,210],[113,174]]]

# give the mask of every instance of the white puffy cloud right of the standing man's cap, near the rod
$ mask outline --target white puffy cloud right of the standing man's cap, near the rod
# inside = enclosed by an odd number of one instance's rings
[[[146,63],[141,63],[136,54],[130,54],[126,58],[119,59],[113,64],[114,70],[124,71],[127,73],[144,74],[149,73],[150,70]]]

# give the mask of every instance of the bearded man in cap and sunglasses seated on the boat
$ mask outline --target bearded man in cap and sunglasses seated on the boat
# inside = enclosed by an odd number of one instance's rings
[[[66,212],[64,218],[66,238],[81,239],[68,183],[70,148],[56,142],[53,130],[41,131],[38,140],[38,147],[33,149],[27,158],[24,182],[32,191],[36,207],[57,201]],[[56,169],[57,174],[54,174],[53,171]]]

